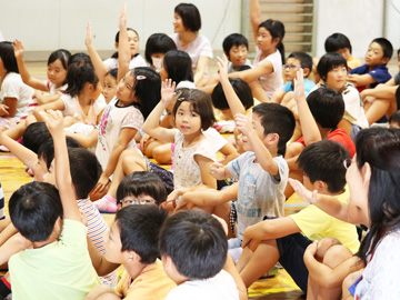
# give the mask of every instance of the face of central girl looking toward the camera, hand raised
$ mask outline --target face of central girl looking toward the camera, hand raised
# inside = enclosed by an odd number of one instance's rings
[[[176,114],[176,127],[184,136],[198,134],[201,130],[200,114],[193,111],[189,101],[182,101]]]

